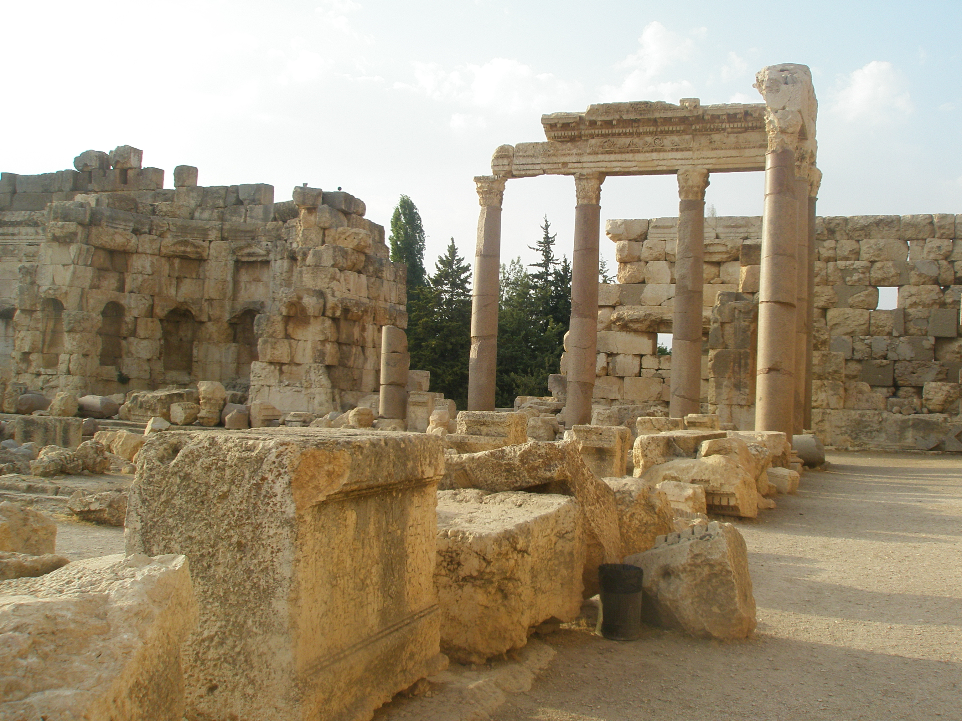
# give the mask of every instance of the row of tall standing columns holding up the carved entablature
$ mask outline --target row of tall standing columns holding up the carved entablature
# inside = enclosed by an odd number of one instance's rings
[[[817,171],[815,171],[817,172]],[[708,170],[678,171],[678,241],[672,311],[671,417],[700,410],[704,209]],[[468,410],[494,410],[501,205],[505,179],[479,176]],[[566,424],[590,423],[597,352],[598,241],[604,175],[574,176],[574,254]],[[766,156],[759,288],[755,428],[799,434],[811,427],[815,197],[797,177],[791,149]]]

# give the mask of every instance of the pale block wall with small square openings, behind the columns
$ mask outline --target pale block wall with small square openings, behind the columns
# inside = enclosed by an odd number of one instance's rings
[[[761,227],[705,218],[702,406],[740,429],[754,422]],[[619,283],[599,292],[597,405],[667,407],[671,357],[649,349],[671,333],[676,229],[607,223]],[[813,430],[831,445],[962,450],[962,215],[819,217],[816,238]],[[898,288],[898,308],[877,309],[879,287]]]

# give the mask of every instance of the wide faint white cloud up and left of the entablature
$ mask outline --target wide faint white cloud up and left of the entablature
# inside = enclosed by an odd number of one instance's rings
[[[415,83],[395,83],[433,100],[499,112],[528,112],[566,103],[580,92],[551,73],[536,72],[530,65],[508,58],[494,58],[483,65],[461,65],[452,70],[436,63],[415,62]]]

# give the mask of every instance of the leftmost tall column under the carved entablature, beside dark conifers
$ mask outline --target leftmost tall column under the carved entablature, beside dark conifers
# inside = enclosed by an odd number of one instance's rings
[[[474,179],[481,214],[474,251],[471,296],[471,350],[468,360],[468,410],[494,410],[497,371],[497,301],[501,272],[501,201],[504,178]]]

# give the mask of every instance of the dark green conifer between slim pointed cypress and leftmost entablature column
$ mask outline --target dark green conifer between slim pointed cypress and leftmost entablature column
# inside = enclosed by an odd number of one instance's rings
[[[470,266],[452,237],[427,283],[408,286],[408,349],[411,367],[431,371],[431,390],[468,406]]]

